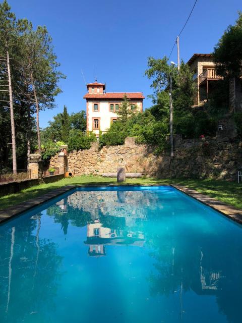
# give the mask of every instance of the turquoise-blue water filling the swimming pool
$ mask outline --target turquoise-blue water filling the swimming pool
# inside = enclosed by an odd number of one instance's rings
[[[0,226],[1,323],[241,322],[242,227],[172,187],[77,189]]]

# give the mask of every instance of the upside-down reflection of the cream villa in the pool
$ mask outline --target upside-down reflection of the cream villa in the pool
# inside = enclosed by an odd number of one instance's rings
[[[124,231],[119,229],[105,228],[99,221],[87,225],[87,240],[90,256],[105,256],[106,245],[132,245],[143,247],[144,235],[142,232]]]

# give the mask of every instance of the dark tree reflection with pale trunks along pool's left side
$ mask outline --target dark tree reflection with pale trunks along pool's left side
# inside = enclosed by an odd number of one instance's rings
[[[47,321],[44,309],[55,306],[62,258],[54,243],[39,238],[40,218],[37,214],[13,228],[9,225],[0,229],[1,322],[24,321],[31,313],[36,320]]]

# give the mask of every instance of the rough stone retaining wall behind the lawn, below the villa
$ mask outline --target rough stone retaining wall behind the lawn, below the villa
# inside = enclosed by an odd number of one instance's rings
[[[135,138],[127,138],[125,145],[98,149],[93,143],[87,150],[73,151],[68,155],[68,170],[74,175],[101,175],[114,173],[124,166],[127,173],[142,173],[160,178],[224,178],[235,180],[242,167],[242,143],[229,138],[226,132],[215,138],[174,138],[174,159],[169,151],[156,156],[155,147],[135,144]],[[50,160],[51,167],[59,167],[57,156]]]

